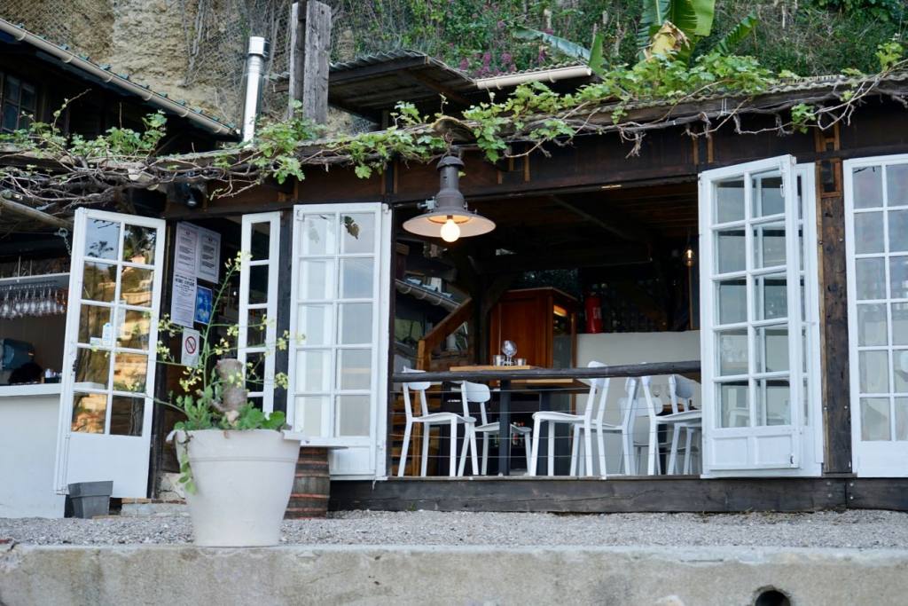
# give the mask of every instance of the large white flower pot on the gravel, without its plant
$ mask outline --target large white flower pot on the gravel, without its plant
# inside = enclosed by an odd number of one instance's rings
[[[272,430],[177,433],[196,492],[186,494],[192,537],[205,547],[261,547],[281,541],[300,442]]]

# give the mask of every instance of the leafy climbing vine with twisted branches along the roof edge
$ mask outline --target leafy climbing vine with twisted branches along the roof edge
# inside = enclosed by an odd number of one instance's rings
[[[283,183],[305,178],[312,166],[352,166],[367,178],[392,160],[429,162],[457,144],[479,149],[491,162],[565,145],[578,134],[616,133],[637,154],[644,135],[654,129],[683,127],[692,137],[708,136],[725,124],[738,133],[776,131],[780,134],[810,127],[828,128],[846,121],[869,94],[888,94],[894,71],[908,67],[897,41],[880,45],[881,71],[849,77],[818,93],[797,100],[755,104],[754,97],[780,82],[753,58],[710,53],[690,65],[671,55],[656,55],[636,65],[604,72],[593,84],[559,94],[545,84],[519,86],[500,101],[492,97],[461,116],[420,115],[406,103],[397,105],[393,124],[378,132],[319,140],[321,131],[300,117],[262,124],[256,140],[203,154],[159,156],[164,134],[163,114],[146,117],[142,133],[112,128],[94,139],[67,137],[54,122],[32,123],[27,129],[0,135],[0,194],[64,214],[74,205],[108,204],[129,189],[167,187],[180,183],[213,183],[213,195],[232,195],[266,179]],[[703,108],[708,99],[724,99],[716,110]],[[696,104],[694,111],[676,111]],[[640,117],[637,109],[646,109]],[[775,116],[775,124],[747,130],[745,114]],[[762,122],[762,121],[761,121]],[[516,145],[521,143],[521,145]],[[5,151],[4,151],[5,150]]]

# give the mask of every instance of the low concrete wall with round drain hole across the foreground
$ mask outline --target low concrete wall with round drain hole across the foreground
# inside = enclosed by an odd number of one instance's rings
[[[903,604],[905,571],[903,550],[0,545],[0,603]]]

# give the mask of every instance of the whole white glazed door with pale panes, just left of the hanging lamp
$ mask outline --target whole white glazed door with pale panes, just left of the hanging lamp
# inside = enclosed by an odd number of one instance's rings
[[[385,472],[390,227],[380,203],[294,211],[288,418],[342,447],[332,477]]]

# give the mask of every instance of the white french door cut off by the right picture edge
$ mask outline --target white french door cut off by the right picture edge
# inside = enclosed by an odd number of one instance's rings
[[[844,162],[853,469],[908,476],[908,154]]]

